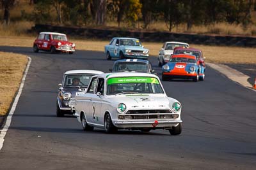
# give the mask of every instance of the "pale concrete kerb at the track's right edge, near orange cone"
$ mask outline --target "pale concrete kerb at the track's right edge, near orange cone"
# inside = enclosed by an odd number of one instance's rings
[[[236,69],[232,69],[231,67],[228,67],[224,64],[207,63],[207,66],[210,66],[212,67],[212,69],[215,69],[221,74],[224,74],[230,80],[235,81],[236,83],[239,83],[239,85],[242,85],[243,87],[246,87],[256,92],[256,90],[253,89],[252,85],[248,82],[248,78],[250,77],[247,76],[246,74],[243,74],[237,71]]]

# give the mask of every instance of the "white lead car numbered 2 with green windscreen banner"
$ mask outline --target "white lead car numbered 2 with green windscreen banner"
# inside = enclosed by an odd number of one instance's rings
[[[84,131],[93,127],[108,133],[117,129],[166,129],[177,135],[182,131],[181,104],[166,96],[154,74],[97,74],[86,94],[76,96],[75,108],[74,115]]]

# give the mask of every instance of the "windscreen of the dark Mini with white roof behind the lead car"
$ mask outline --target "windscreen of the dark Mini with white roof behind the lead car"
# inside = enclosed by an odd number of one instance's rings
[[[88,87],[92,76],[94,76],[94,74],[68,74],[65,76],[64,87]]]

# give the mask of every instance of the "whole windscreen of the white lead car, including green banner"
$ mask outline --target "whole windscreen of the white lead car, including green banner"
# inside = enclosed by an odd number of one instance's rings
[[[163,94],[164,91],[153,77],[118,77],[107,81],[107,95],[118,94]]]

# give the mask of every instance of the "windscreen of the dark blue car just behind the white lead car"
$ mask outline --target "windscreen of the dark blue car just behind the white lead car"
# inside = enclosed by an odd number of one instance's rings
[[[113,72],[122,71],[148,72],[148,64],[145,62],[117,62],[113,67]]]

